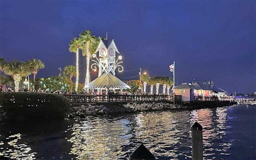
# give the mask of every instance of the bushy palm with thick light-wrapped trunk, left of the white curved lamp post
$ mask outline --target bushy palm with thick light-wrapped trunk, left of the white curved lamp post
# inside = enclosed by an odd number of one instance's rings
[[[31,72],[29,71],[28,64],[23,61],[13,61],[11,64],[9,64],[6,67],[6,69],[4,70],[4,73],[12,76],[12,78],[14,79],[16,92],[18,92],[19,90],[19,83],[22,77],[31,74]]]

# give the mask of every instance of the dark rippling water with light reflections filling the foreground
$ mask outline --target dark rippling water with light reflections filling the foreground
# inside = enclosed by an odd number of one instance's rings
[[[128,159],[140,144],[158,159],[191,159],[190,126],[203,126],[204,159],[256,159],[255,106],[87,117],[1,125],[13,159]]]

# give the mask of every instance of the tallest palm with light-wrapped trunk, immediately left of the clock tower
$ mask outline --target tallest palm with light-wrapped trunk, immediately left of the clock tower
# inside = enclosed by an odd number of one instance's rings
[[[86,88],[86,86],[90,82],[89,80],[90,58],[92,57],[92,53],[95,52],[100,38],[96,38],[95,36],[91,35],[90,30],[83,31],[82,33],[79,34],[79,37],[81,39],[81,42],[83,43],[83,45],[81,46],[82,55],[83,56],[86,55],[86,76],[85,76],[85,83],[84,83],[84,87]]]

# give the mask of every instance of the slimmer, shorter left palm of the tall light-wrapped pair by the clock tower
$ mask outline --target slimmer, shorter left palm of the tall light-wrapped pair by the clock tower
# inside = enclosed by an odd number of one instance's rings
[[[76,53],[76,86],[75,91],[78,88],[78,80],[79,80],[79,49],[81,47],[81,40],[78,38],[73,38],[69,43],[69,52]]]

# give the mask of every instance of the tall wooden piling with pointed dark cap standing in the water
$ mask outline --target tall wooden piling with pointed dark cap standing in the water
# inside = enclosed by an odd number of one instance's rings
[[[191,126],[192,160],[203,160],[203,127],[195,122]]]

